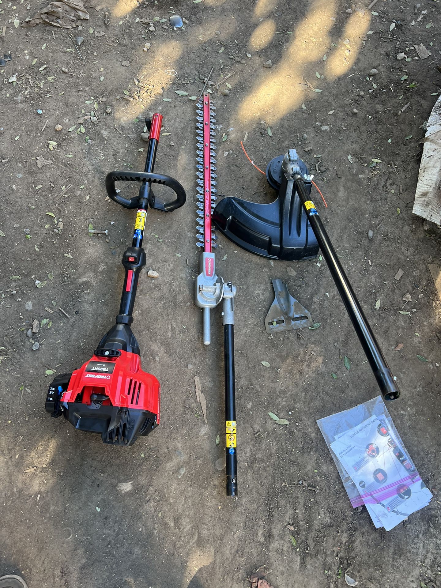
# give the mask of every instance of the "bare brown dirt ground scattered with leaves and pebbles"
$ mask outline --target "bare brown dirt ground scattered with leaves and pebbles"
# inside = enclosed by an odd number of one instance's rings
[[[436,2],[94,2],[82,28],[67,30],[22,28],[44,0],[1,4],[1,54],[12,61],[0,68],[0,573],[22,573],[30,588],[242,588],[264,565],[275,588],[345,586],[348,569],[363,587],[441,586],[441,323],[427,268],[439,263],[440,233],[412,215],[423,125],[441,83]],[[172,12],[188,21],[185,29],[171,29]],[[153,18],[150,31],[144,21]],[[76,36],[84,37],[78,51]],[[421,43],[425,59],[414,48]],[[263,169],[298,148],[402,390],[389,410],[435,496],[389,533],[350,507],[316,425],[379,393],[325,262],[273,263],[220,236],[218,272],[238,288],[239,497],[225,496],[225,471],[216,469],[224,448],[220,310],[205,348],[193,302],[196,115],[188,96],[199,96],[212,67],[214,82],[233,74],[228,96],[226,83],[209,86],[219,192],[273,197],[240,149],[246,133]],[[133,213],[106,199],[104,178],[143,167],[143,117],[152,112],[164,116],[155,171],[175,176],[188,201],[148,215],[146,269],[159,278],[143,273],[133,330],[143,369],[162,385],[161,425],[122,449],[51,419],[45,372],[80,366],[118,312]],[[89,222],[108,238],[90,237]],[[286,281],[318,329],[266,335],[272,278]],[[406,293],[412,302],[402,300]],[[29,340],[34,319],[48,321]]]

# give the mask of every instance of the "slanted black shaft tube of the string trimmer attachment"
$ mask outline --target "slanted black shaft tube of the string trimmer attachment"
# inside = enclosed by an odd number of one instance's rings
[[[319,243],[323,257],[328,264],[329,271],[340,296],[342,297],[346,310],[348,311],[349,318],[352,320],[355,332],[357,333],[362,348],[366,353],[366,358],[368,358],[370,368],[376,377],[383,398],[385,400],[395,400],[400,395],[400,389],[393,379],[392,372],[387,365],[385,356],[375,339],[375,335],[370,328],[365,313],[363,313],[355,292],[346,276],[345,270],[330,242],[328,233],[323,226],[322,219],[320,219],[315,206],[310,200],[305,181],[299,174],[295,174],[293,180],[300,200],[303,203],[303,208],[305,208],[306,214],[308,215],[309,223]]]

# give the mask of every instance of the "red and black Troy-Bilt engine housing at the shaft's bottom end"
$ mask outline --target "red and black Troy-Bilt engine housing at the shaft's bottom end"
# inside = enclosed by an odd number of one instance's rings
[[[133,337],[127,325],[123,330]],[[118,338],[123,344],[117,349],[116,339],[114,329],[81,368],[55,377],[46,411],[64,415],[76,429],[101,433],[104,443],[132,445],[159,425],[161,387],[155,376],[141,369],[137,345]]]

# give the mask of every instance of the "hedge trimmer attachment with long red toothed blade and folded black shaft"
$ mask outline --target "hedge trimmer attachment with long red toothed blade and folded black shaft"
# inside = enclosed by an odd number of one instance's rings
[[[210,95],[204,94],[198,104],[198,246],[203,248],[199,260],[201,273],[196,280],[196,305],[203,309],[203,343],[211,341],[210,310],[223,301],[222,324],[225,365],[225,433],[226,433],[226,493],[238,495],[236,457],[236,403],[234,381],[234,297],[236,288],[216,276],[215,235],[212,234],[211,214],[216,201],[216,152],[215,106],[210,105]]]

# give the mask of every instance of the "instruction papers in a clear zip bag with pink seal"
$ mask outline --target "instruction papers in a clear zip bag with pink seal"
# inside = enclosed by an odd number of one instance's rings
[[[318,425],[352,506],[366,505],[377,528],[389,531],[429,504],[432,493],[407,454],[380,396],[320,419]]]

